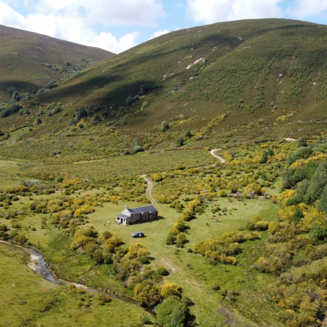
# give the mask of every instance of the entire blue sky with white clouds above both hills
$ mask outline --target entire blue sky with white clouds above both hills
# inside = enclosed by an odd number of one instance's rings
[[[0,0],[0,25],[114,53],[179,29],[254,18],[327,24],[327,0]]]

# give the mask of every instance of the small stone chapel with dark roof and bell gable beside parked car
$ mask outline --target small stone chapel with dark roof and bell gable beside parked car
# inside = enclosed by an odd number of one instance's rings
[[[127,226],[138,222],[152,221],[157,218],[158,210],[152,205],[138,208],[128,208],[128,205],[125,205],[125,209],[116,216],[116,222]]]

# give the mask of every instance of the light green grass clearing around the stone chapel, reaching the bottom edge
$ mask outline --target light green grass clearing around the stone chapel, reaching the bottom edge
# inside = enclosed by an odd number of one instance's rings
[[[224,232],[244,226],[245,222],[255,214],[261,214],[267,220],[276,219],[277,205],[268,200],[246,200],[238,203],[230,203],[226,198],[214,201],[222,207],[231,209],[236,206],[237,210],[230,210],[227,215],[221,216],[221,222],[216,222],[211,212],[205,212],[197,219],[188,223],[190,229],[187,231],[189,243],[186,247],[193,247],[195,242],[204,241],[208,238],[222,235]],[[246,203],[246,205],[243,205]],[[105,203],[103,207],[97,208],[95,213],[89,215],[89,223],[96,230],[103,232],[110,230],[121,237],[125,243],[131,244],[140,241],[150,251],[154,260],[151,265],[165,266],[170,271],[168,280],[176,282],[183,288],[183,294],[189,296],[195,305],[191,311],[196,315],[199,324],[223,325],[226,312],[236,325],[260,325],[264,319],[266,323],[280,325],[274,318],[276,308],[270,302],[266,294],[266,284],[272,279],[268,275],[258,273],[252,268],[261,255],[261,247],[268,234],[262,232],[262,240],[248,241],[242,244],[242,253],[237,257],[241,266],[226,266],[217,264],[212,266],[208,261],[196,254],[187,253],[185,249],[177,250],[174,246],[165,246],[165,239],[169,228],[174,224],[180,214],[167,205],[158,204],[159,216],[163,219],[145,222],[142,224],[122,226],[116,224],[115,215],[119,213],[124,203]],[[141,204],[128,202],[129,207]],[[231,214],[229,214],[231,213]],[[104,226],[104,222],[110,221]],[[133,239],[131,234],[141,230],[146,237]],[[240,295],[236,302],[231,305],[217,292],[211,289],[213,283],[218,283],[228,290],[239,291]],[[256,303],[250,308],[248,301]],[[267,312],[270,312],[267,315]],[[264,315],[262,315],[264,314]],[[268,318],[269,317],[269,318]],[[219,325],[219,324],[218,324]]]

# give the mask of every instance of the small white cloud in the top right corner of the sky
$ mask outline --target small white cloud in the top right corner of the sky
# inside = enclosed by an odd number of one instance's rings
[[[300,19],[319,15],[325,11],[327,11],[327,0],[296,0],[294,6],[287,9],[288,14]]]

